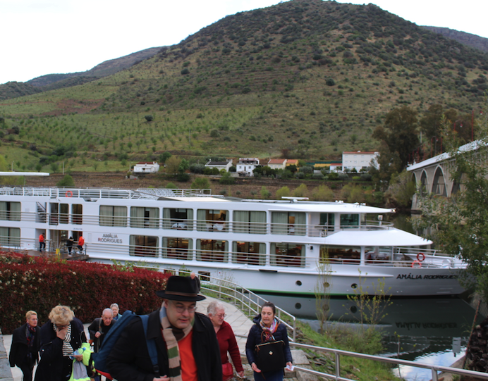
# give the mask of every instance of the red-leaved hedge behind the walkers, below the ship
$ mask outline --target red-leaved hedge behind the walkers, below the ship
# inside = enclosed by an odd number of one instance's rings
[[[70,306],[83,323],[102,316],[117,303],[126,310],[150,313],[161,305],[154,292],[166,287],[170,274],[83,261],[53,261],[0,252],[0,329],[11,333],[25,323],[25,313],[37,312],[39,325],[51,308]]]

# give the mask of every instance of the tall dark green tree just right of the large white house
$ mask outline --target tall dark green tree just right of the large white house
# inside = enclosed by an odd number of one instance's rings
[[[373,137],[386,142],[394,156],[398,156],[401,168],[408,163],[408,156],[419,145],[417,137],[417,111],[408,106],[394,108],[386,114],[384,127],[377,127]]]

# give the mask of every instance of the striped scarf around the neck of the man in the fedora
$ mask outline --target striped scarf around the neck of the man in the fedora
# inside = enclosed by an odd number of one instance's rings
[[[163,338],[166,342],[166,349],[168,351],[168,377],[171,381],[183,381],[181,377],[181,360],[178,342],[191,332],[193,324],[195,323],[195,318],[193,318],[188,327],[183,330],[178,330],[175,327],[171,327],[171,323],[169,323],[169,319],[166,316],[166,308],[161,306],[161,309],[159,310],[159,319],[161,320],[161,327],[163,327]]]

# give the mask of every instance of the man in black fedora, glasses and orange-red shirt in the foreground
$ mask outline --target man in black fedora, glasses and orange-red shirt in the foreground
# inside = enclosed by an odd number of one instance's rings
[[[150,313],[147,337],[142,321],[124,328],[107,358],[110,374],[118,381],[221,381],[219,343],[207,316],[195,312],[199,295],[195,277],[171,276],[161,308]],[[152,365],[147,339],[155,339],[159,373]]]

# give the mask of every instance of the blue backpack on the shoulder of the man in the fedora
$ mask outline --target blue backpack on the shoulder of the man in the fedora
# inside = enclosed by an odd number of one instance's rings
[[[123,329],[133,321],[135,318],[140,318],[142,320],[142,327],[144,328],[144,337],[147,336],[147,320],[149,316],[147,315],[136,315],[132,311],[126,311],[123,313],[121,318],[118,318],[114,327],[111,327],[109,332],[106,333],[102,346],[100,346],[99,351],[96,354],[92,354],[92,361],[94,361],[94,368],[98,373],[101,373],[105,377],[110,377],[109,370],[106,367],[106,358],[109,356],[112,348],[116,344],[118,337],[121,335]],[[156,341],[154,339],[146,340],[147,351],[151,358],[152,366],[154,369],[154,377],[159,377],[159,366],[157,363],[157,350]]]

